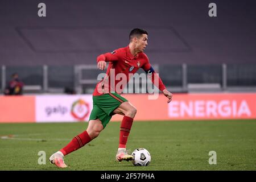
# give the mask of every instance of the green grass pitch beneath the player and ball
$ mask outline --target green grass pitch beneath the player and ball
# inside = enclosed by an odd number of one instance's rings
[[[151,154],[147,167],[115,162],[120,122],[110,122],[98,138],[65,156],[69,168],[58,169],[50,164],[49,156],[87,125],[87,122],[0,124],[0,170],[256,169],[254,120],[134,122],[127,148],[131,151],[146,148]],[[46,164],[38,164],[39,151],[46,152]],[[209,164],[209,151],[216,151],[217,164]]]

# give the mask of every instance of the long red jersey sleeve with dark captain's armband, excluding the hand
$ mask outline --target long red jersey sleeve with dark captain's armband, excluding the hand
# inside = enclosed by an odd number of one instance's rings
[[[145,55],[146,56],[146,55]],[[142,69],[150,76],[152,83],[158,87],[159,90],[163,92],[166,89],[166,86],[163,84],[163,81],[159,77],[159,74],[154,71],[151,64],[149,63],[148,57],[146,56],[146,63],[143,64]],[[158,80],[158,85],[155,84],[155,80]]]

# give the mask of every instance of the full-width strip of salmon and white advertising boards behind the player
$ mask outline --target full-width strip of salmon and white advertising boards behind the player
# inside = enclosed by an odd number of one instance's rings
[[[135,121],[256,119],[256,93],[174,94],[170,104],[163,94],[154,100],[148,94],[122,96],[137,108]],[[91,110],[91,95],[0,96],[0,122],[88,121]],[[122,118],[115,114],[112,121]]]

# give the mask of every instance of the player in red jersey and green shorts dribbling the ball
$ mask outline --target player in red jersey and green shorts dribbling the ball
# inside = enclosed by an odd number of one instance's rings
[[[139,68],[142,68],[147,75],[151,76],[152,82],[157,79],[158,84],[155,85],[168,98],[167,103],[171,102],[172,93],[166,89],[166,86],[164,86],[158,74],[151,67],[148,57],[144,53],[146,46],[147,32],[135,28],[130,32],[130,43],[127,47],[119,48],[111,53],[108,52],[97,57],[98,69],[104,70],[106,62],[109,61],[108,70],[106,71],[108,76],[98,82],[93,92],[93,109],[90,114],[89,125],[83,133],[73,138],[67,146],[51,155],[49,160],[52,164],[60,168],[67,167],[64,163],[64,156],[98,137],[114,114],[123,115],[119,133],[119,146],[115,159],[121,162],[122,160],[129,161],[133,158],[127,154],[126,143],[137,110],[129,101],[120,96],[122,88],[117,89],[118,79],[115,80],[113,85],[109,78],[115,78],[118,73],[123,73],[126,75],[128,82],[129,73],[134,74]]]

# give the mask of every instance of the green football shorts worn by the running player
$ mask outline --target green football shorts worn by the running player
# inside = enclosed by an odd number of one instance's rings
[[[114,115],[112,112],[123,102],[127,102],[127,100],[117,93],[93,96],[93,109],[92,113],[90,113],[89,121],[98,118],[105,128],[112,118],[112,115]]]

